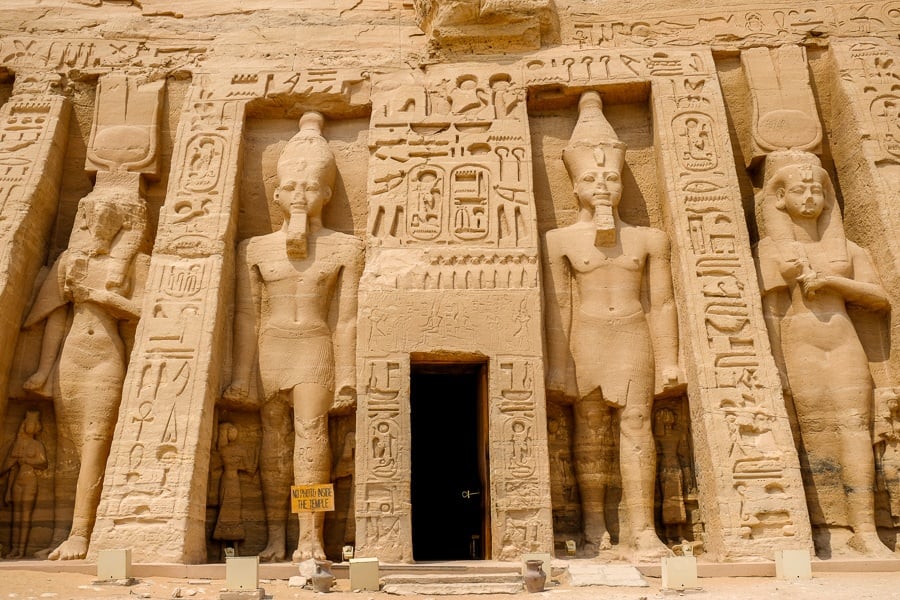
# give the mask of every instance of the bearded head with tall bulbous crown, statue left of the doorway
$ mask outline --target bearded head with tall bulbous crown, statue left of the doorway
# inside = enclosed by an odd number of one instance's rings
[[[322,137],[324,121],[317,112],[300,117],[300,131],[278,158],[274,199],[288,224],[288,256],[295,259],[306,258],[307,220],[321,218],[322,208],[334,190],[337,168],[334,154]]]

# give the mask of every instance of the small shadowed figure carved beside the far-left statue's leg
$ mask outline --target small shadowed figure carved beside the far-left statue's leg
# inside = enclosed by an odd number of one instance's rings
[[[5,501],[12,503],[12,550],[6,558],[22,558],[31,533],[31,515],[37,501],[37,471],[47,468],[47,450],[38,439],[43,426],[41,413],[29,410],[19,425],[19,433],[0,468],[0,477],[8,476]]]

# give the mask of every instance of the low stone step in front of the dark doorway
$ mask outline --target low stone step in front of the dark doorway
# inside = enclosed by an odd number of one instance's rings
[[[381,581],[381,591],[398,596],[517,594],[524,589],[519,573],[404,573]]]

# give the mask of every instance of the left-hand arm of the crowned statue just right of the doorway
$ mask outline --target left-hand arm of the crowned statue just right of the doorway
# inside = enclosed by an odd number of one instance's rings
[[[547,334],[547,391],[565,396],[569,374],[569,331],[572,326],[572,282],[568,259],[556,233],[546,237],[550,278],[544,291]]]

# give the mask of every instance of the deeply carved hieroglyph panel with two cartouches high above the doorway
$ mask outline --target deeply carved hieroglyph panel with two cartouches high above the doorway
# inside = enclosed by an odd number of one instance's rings
[[[512,72],[436,73],[373,95],[368,233],[381,246],[535,245],[525,93]]]

